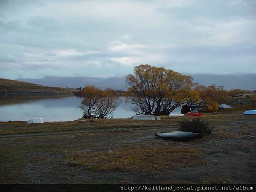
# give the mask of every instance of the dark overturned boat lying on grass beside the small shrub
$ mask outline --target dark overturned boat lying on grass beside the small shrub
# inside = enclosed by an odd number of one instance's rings
[[[199,133],[185,132],[185,131],[172,131],[168,133],[156,133],[156,137],[164,139],[164,140],[176,140],[176,141],[184,141],[184,140],[195,140],[204,138]]]

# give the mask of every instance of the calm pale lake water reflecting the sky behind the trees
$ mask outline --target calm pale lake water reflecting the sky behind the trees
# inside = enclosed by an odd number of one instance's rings
[[[134,116],[132,105],[122,103],[116,108],[113,118]],[[31,96],[31,95],[0,95],[0,121],[27,121],[42,117],[44,121],[71,121],[83,116],[78,108],[82,98],[79,96]],[[230,106],[225,105],[224,108]],[[176,108],[172,114],[180,114]]]

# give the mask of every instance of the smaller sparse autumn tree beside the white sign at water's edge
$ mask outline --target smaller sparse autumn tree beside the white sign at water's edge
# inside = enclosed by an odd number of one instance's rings
[[[113,116],[116,107],[120,103],[119,97],[113,94],[110,89],[100,90],[98,87],[88,85],[82,90],[83,100],[79,108],[84,112],[84,116],[91,116],[91,108],[96,109],[97,118]]]

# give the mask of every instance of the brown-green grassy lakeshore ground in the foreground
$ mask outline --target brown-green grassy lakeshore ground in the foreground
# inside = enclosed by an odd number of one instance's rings
[[[196,117],[0,122],[0,183],[255,183],[256,116],[242,112],[204,113],[213,135],[186,142],[154,134]]]

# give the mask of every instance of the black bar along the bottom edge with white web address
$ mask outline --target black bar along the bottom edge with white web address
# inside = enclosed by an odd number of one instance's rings
[[[0,192],[256,191],[256,184],[0,184]]]

